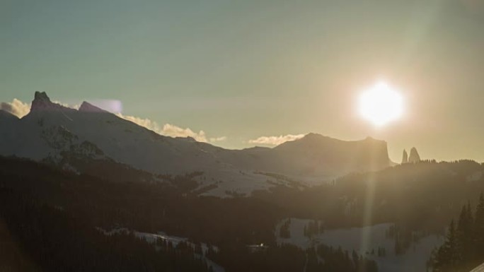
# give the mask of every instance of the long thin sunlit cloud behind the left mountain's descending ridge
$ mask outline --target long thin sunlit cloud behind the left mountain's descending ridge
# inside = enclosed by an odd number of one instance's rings
[[[192,131],[190,128],[183,129],[180,126],[175,126],[173,124],[163,124],[163,126],[160,126],[157,122],[154,122],[150,119],[147,118],[139,118],[139,117],[134,117],[134,116],[129,116],[129,115],[123,115],[123,114],[116,114],[118,117],[121,117],[122,119],[126,119],[128,121],[133,122],[134,124],[137,124],[139,126],[144,126],[146,129],[155,131],[157,134],[161,134],[164,136],[171,136],[171,137],[192,137],[195,140],[199,142],[217,142],[217,141],[225,141],[226,136],[221,136],[221,137],[214,137],[214,138],[209,138],[207,139],[207,136],[205,135],[204,131]]]

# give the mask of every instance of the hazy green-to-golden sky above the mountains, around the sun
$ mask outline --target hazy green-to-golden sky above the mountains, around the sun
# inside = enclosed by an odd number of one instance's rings
[[[484,0],[0,0],[0,48],[3,102],[116,100],[224,148],[314,132],[484,161]],[[405,99],[382,127],[356,110],[377,81]]]

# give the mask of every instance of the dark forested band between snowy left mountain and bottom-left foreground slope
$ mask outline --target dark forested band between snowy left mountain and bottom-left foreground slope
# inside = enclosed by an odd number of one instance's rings
[[[28,192],[105,230],[163,231],[209,244],[275,244],[275,224],[284,216],[275,205],[260,199],[190,196],[180,189],[191,183],[190,175],[170,179],[177,187],[172,182],[73,175],[38,162],[0,158],[0,187]]]

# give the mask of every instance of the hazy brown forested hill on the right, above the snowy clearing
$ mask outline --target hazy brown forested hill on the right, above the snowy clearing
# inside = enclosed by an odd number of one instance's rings
[[[276,187],[255,192],[254,198],[282,208],[287,217],[323,220],[325,229],[362,227],[370,220],[396,223],[405,232],[441,233],[463,201],[484,191],[484,177],[468,180],[483,171],[484,165],[471,160],[422,161],[352,173],[303,190]],[[371,218],[365,218],[366,209]]]

